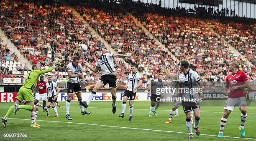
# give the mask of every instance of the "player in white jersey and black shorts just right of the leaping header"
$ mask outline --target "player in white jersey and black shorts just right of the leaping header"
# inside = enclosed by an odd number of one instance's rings
[[[130,110],[130,118],[129,122],[132,121],[133,118],[133,100],[135,99],[137,89],[142,86],[141,75],[137,73],[136,65],[131,65],[131,74],[128,76],[128,82],[125,84],[125,94],[123,96],[123,104],[122,104],[122,113],[119,117],[124,117],[124,112],[126,109],[126,101],[129,98],[129,110]]]

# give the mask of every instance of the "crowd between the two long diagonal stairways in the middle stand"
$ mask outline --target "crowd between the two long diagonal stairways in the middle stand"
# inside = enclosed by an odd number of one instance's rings
[[[135,51],[126,60],[138,65],[149,79],[160,72],[166,76],[177,74],[177,62],[149,37],[131,15],[120,10],[116,3],[100,0],[76,2],[76,10],[118,53]]]

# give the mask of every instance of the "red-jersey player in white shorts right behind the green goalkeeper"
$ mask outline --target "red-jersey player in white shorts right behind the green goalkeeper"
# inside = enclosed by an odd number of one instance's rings
[[[44,76],[41,75],[40,76],[40,81],[38,81],[37,84],[36,84],[36,88],[38,88],[39,94],[36,96],[36,99],[34,100],[34,104],[36,106],[43,107],[44,111],[47,112],[46,116],[50,116],[49,110],[46,107],[46,101],[47,101],[46,83],[47,82],[44,81]],[[34,92],[37,92],[37,90],[35,90]],[[34,95],[35,95],[35,93],[34,93]],[[43,101],[43,105],[38,103],[41,100]]]

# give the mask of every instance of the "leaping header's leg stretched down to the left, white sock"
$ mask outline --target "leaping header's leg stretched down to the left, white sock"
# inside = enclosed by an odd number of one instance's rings
[[[107,83],[106,83],[106,84],[107,84]],[[88,98],[86,101],[84,101],[84,102],[81,101],[80,104],[81,104],[82,106],[84,106],[84,108],[87,108],[87,107],[89,106],[90,102],[92,101],[92,99],[95,97],[96,92],[97,92],[100,88],[102,88],[102,87],[104,87],[104,86],[105,86],[105,84],[103,83],[102,80],[97,81],[97,83],[95,84],[95,87],[92,89],[92,92],[91,92],[89,98]]]

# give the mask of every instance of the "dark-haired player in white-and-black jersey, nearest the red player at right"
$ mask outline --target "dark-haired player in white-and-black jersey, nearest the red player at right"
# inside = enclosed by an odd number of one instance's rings
[[[191,111],[194,111],[195,114],[195,124],[194,129],[196,131],[196,135],[200,135],[200,131],[198,129],[198,124],[200,122],[200,106],[198,102],[194,101],[183,101],[183,99],[197,99],[197,93],[195,92],[195,88],[200,84],[200,76],[197,74],[197,72],[192,71],[189,69],[189,62],[186,60],[182,60],[180,62],[180,70],[182,74],[179,75],[179,83],[180,86],[184,89],[189,89],[189,91],[182,92],[182,106],[184,113],[186,114],[186,124],[187,129],[189,131],[189,139],[193,139],[193,133],[192,133],[192,123],[191,123]]]

